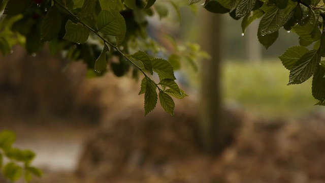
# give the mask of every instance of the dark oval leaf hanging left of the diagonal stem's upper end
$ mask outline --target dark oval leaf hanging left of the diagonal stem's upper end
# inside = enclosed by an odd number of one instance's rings
[[[59,10],[52,6],[43,19],[41,26],[41,41],[50,41],[58,35],[61,28],[61,14]]]

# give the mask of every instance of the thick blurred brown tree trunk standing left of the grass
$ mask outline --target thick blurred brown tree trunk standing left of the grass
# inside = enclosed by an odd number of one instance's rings
[[[222,116],[220,67],[222,59],[221,15],[202,12],[202,47],[212,57],[202,63],[201,142],[209,154],[219,153],[226,143]]]

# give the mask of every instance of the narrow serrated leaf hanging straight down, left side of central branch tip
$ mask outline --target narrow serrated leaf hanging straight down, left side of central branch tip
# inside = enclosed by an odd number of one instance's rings
[[[157,104],[158,95],[156,92],[156,85],[146,78],[146,89],[144,93],[144,115],[151,112]]]

